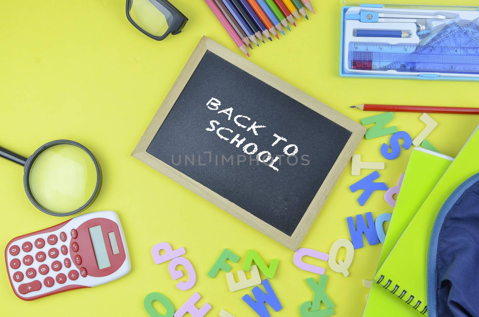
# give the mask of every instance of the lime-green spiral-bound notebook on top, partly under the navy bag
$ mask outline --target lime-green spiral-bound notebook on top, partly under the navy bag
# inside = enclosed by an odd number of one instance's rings
[[[426,263],[434,219],[449,195],[479,172],[479,133],[469,138],[389,253],[375,281],[395,300],[427,315]]]

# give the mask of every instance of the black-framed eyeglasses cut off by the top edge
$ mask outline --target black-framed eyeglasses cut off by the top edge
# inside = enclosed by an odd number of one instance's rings
[[[126,17],[143,34],[161,41],[181,33],[188,18],[167,0],[126,0]]]

